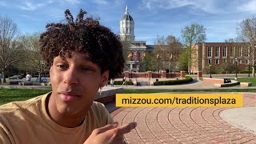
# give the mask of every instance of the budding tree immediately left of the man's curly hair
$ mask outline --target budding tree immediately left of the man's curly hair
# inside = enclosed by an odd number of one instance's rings
[[[20,38],[22,47],[26,53],[26,57],[24,58],[26,62],[23,62],[19,69],[30,72],[30,74],[34,72],[38,74],[40,79],[43,70],[46,70],[47,64],[43,61],[42,55],[40,54],[39,37],[39,33],[34,33],[22,35]]]

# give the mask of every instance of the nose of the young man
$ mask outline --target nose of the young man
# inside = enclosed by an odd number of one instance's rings
[[[64,82],[69,85],[78,84],[78,70],[75,66],[70,66],[64,75]]]

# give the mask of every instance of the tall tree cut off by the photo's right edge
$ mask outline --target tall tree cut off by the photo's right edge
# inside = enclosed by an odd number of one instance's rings
[[[256,18],[246,18],[238,24],[238,39],[245,42],[249,60],[253,66],[252,74],[255,77],[255,44],[256,44]]]

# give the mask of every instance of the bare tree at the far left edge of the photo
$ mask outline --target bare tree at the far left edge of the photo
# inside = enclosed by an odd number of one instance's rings
[[[7,67],[20,62],[22,47],[18,42],[18,26],[10,18],[0,16],[0,69],[2,82],[6,82]]]

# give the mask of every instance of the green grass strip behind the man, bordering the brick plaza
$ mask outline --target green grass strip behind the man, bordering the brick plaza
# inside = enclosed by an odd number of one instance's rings
[[[38,95],[46,94],[50,90],[35,89],[0,89],[0,105],[7,102],[24,101]],[[146,93],[182,93],[182,92],[250,92],[256,93],[256,89],[208,89],[208,90],[123,90],[124,94],[146,94]]]

